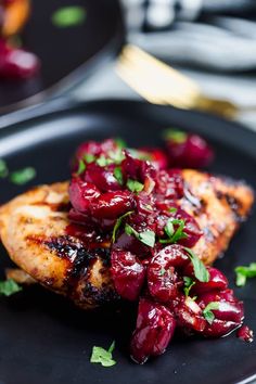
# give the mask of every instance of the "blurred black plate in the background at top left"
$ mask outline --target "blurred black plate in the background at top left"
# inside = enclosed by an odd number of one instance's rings
[[[41,60],[41,72],[25,81],[1,81],[0,113],[40,102],[75,86],[92,65],[95,69],[100,59],[118,51],[124,41],[118,0],[33,0],[31,4],[22,40]],[[69,28],[55,27],[51,15],[66,5],[84,5],[86,22]]]

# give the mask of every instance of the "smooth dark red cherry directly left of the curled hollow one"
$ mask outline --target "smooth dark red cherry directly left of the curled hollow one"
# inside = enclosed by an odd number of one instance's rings
[[[128,300],[139,297],[145,278],[145,267],[126,251],[112,251],[111,271],[118,294]]]

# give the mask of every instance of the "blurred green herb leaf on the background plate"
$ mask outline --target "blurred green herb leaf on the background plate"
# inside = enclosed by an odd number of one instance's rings
[[[52,24],[59,28],[81,25],[86,20],[86,10],[79,5],[63,7],[52,14],[51,20]]]

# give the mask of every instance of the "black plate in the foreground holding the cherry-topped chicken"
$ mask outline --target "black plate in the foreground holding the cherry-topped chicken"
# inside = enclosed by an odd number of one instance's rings
[[[239,125],[192,112],[139,102],[98,102],[37,116],[0,130],[0,157],[11,169],[33,165],[30,183],[68,178],[68,159],[87,139],[123,137],[130,145],[161,144],[162,129],[175,126],[203,133],[216,150],[214,172],[245,179],[256,187],[256,135]],[[23,192],[1,181],[1,201]],[[233,286],[233,268],[256,260],[256,215],[233,239],[226,257],[216,265]],[[1,270],[10,265],[1,249]],[[235,289],[244,299],[246,323],[256,330],[256,280]],[[0,382],[4,384],[167,384],[238,383],[256,374],[256,345],[231,335],[216,341],[174,341],[165,355],[144,366],[130,361],[127,343],[135,312],[125,308],[84,312],[40,287],[0,299]],[[116,340],[117,364],[103,368],[89,362],[93,345],[107,347]]]

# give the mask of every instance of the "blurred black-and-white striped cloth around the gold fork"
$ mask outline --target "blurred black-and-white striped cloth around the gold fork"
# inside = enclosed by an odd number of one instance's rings
[[[128,41],[156,55],[212,98],[239,106],[256,130],[255,0],[123,0]],[[77,89],[79,98],[139,95],[111,63]]]

